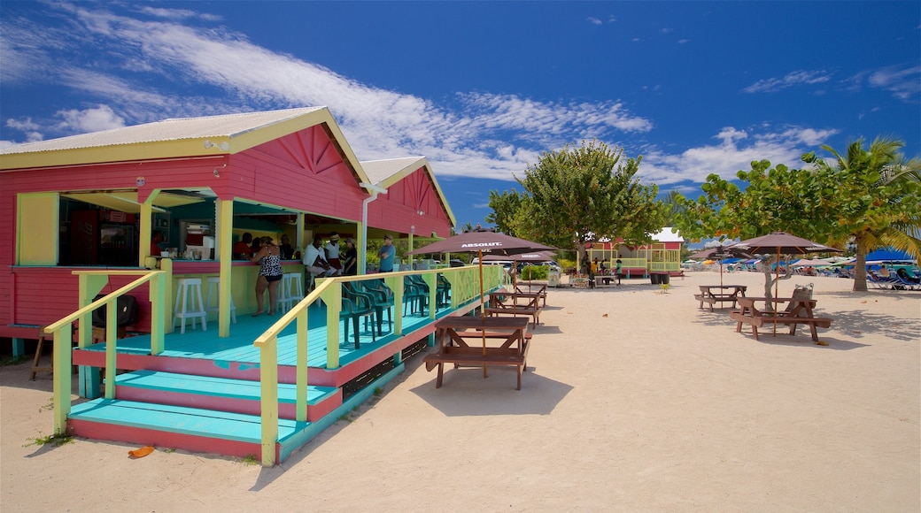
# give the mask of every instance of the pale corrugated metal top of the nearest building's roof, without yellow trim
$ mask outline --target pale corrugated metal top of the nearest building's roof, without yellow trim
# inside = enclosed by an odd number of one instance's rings
[[[143,125],[134,125],[107,131],[95,131],[52,139],[49,141],[27,142],[10,146],[0,154],[25,154],[76,150],[81,148],[99,148],[138,144],[146,142],[169,142],[207,137],[235,138],[245,133],[261,129],[275,123],[291,120],[324,107],[288,108],[268,112],[247,112],[243,114],[225,114],[206,116],[204,118],[177,118],[155,121]]]

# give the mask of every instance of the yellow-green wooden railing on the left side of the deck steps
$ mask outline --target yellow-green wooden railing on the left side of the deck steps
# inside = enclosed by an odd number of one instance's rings
[[[93,311],[106,307],[106,388],[107,399],[115,397],[115,344],[118,338],[118,298],[127,292],[149,283],[150,298],[150,353],[163,352],[163,334],[166,329],[166,287],[167,271],[162,270],[76,270],[79,276],[80,309],[63,319],[45,326],[45,333],[54,336],[53,379],[54,379],[54,434],[64,435],[67,431],[67,416],[70,414],[71,389],[71,344],[74,339],[73,323],[76,321],[78,345],[86,348],[93,336]],[[131,283],[111,294],[92,301],[110,276],[136,276]]]

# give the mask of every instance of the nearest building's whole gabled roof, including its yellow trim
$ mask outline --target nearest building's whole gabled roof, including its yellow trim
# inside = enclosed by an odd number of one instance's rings
[[[325,107],[179,118],[27,142],[0,151],[0,170],[239,154],[318,124],[327,127],[348,164],[365,181],[356,155]]]

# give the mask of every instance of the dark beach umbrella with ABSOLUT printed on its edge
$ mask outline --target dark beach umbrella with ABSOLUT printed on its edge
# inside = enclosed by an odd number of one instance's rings
[[[525,239],[519,239],[507,234],[500,234],[491,230],[473,230],[457,234],[445,240],[424,245],[410,251],[410,255],[430,255],[433,253],[476,253],[480,263],[480,314],[486,316],[483,301],[483,258],[487,256],[511,257],[526,253],[541,251],[555,251],[555,247],[542,245]],[[483,333],[483,352],[486,353],[486,333]],[[486,368],[483,368],[484,376]]]

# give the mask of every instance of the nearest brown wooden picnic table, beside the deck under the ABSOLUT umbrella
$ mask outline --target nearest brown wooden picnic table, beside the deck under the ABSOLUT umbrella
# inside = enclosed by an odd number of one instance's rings
[[[453,363],[455,369],[483,367],[484,378],[487,365],[514,365],[518,367],[516,390],[521,390],[521,372],[527,371],[528,361],[527,318],[457,315],[439,319],[435,329],[438,350],[423,359],[426,371],[438,369],[435,388],[441,388],[445,363]]]

